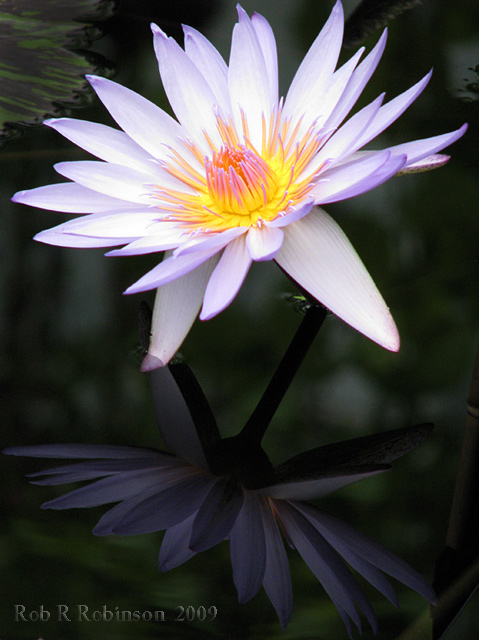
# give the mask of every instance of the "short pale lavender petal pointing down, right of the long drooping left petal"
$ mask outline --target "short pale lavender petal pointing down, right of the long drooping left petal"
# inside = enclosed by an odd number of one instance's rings
[[[251,266],[245,237],[240,236],[223,251],[209,279],[200,320],[209,320],[223,311],[236,297]]]

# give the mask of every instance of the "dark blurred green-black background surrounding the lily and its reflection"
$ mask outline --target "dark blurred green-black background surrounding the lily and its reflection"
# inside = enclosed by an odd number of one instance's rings
[[[357,2],[346,2],[346,15]],[[235,3],[118,3],[92,51],[115,80],[168,109],[149,23],[180,37],[180,24],[205,33],[227,57]],[[325,0],[248,0],[270,20],[278,42],[282,92],[332,7]],[[383,293],[399,327],[398,354],[382,350],[329,316],[265,437],[277,464],[308,448],[420,422],[429,439],[388,473],[352,485],[320,506],[398,553],[429,580],[445,535],[479,344],[479,6],[469,0],[424,2],[389,25],[389,41],[360,104],[391,98],[434,67],[424,94],[375,144],[435,135],[469,122],[449,164],[390,180],[373,192],[327,207]],[[365,41],[368,50],[379,32]],[[346,60],[355,49],[343,52]],[[0,87],[1,92],[1,87]],[[74,117],[111,124],[98,100]],[[41,126],[0,151],[0,371],[4,446],[55,442],[161,447],[147,380],[140,373],[138,308],[153,293],[122,296],[155,256],[105,258],[103,250],[51,247],[35,233],[65,220],[14,205],[19,189],[58,180],[53,165],[86,154]],[[255,264],[234,303],[195,324],[182,354],[215,412],[222,435],[234,435],[254,409],[300,316],[294,293],[274,263]],[[263,590],[239,605],[228,543],[169,573],[158,572],[161,534],[95,538],[103,508],[42,511],[64,491],[29,485],[41,461],[2,457],[0,638],[314,638],[347,633],[324,591],[290,550],[294,607],[282,631]],[[48,466],[48,463],[45,464]],[[52,466],[52,465],[50,465]],[[363,583],[361,583],[363,584]],[[395,609],[365,585],[379,618],[379,638],[430,637],[427,604],[402,585]],[[14,605],[56,611],[163,610],[165,622],[14,622]],[[175,620],[191,606],[216,606],[214,620]],[[73,609],[71,609],[73,611]],[[53,616],[52,616],[53,617]],[[418,622],[419,620],[419,622]],[[411,625],[419,624],[421,635]],[[373,637],[364,622],[364,638]],[[421,626],[422,625],[422,626]],[[476,637],[477,595],[446,640]]]

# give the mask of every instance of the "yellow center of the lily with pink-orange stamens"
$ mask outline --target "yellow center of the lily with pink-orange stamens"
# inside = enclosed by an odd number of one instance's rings
[[[263,118],[261,150],[249,139],[243,119],[241,140],[231,121],[218,117],[222,141],[216,145],[205,133],[211,153],[204,156],[191,142],[185,142],[204,169],[195,169],[176,150],[172,162],[162,168],[188,187],[188,192],[161,189],[156,196],[168,211],[167,220],[176,221],[185,231],[221,232],[234,227],[260,226],[299,204],[314,186],[315,175],[307,165],[321,146],[322,138],[311,127],[297,139],[299,124],[281,119],[281,110],[269,124]],[[306,169],[306,171],[305,171]]]

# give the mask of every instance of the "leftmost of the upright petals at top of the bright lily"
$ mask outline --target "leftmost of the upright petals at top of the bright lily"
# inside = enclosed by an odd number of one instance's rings
[[[218,145],[221,144],[214,109],[215,95],[201,72],[173,38],[168,38],[155,24],[151,25],[151,30],[161,80],[171,108],[188,135],[208,153],[205,131]]]

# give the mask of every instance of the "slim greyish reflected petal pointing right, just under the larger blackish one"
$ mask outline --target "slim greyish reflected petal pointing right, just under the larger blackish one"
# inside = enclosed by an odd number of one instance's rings
[[[329,478],[318,478],[300,482],[284,482],[258,489],[258,493],[268,496],[269,498],[281,500],[312,500],[328,496],[343,487],[353,484],[353,482],[358,482],[364,478],[383,473],[386,470],[387,469],[378,469],[358,473],[345,472],[344,475]]]

